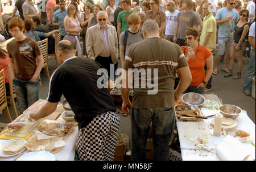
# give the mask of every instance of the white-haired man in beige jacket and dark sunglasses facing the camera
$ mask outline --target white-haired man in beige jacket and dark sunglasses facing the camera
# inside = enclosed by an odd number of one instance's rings
[[[110,64],[114,64],[114,71],[117,70],[118,40],[115,27],[108,25],[107,20],[105,11],[97,13],[98,24],[90,27],[86,33],[86,50],[88,58],[99,62],[110,76]]]

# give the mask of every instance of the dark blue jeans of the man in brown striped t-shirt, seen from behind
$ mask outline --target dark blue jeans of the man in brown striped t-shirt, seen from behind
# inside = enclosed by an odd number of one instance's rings
[[[131,108],[131,160],[146,160],[146,143],[150,124],[153,124],[154,160],[167,161],[169,141],[174,131],[173,108]]]

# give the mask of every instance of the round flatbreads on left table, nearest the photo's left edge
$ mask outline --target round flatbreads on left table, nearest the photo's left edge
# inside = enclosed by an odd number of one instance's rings
[[[5,154],[15,154],[22,149],[24,149],[26,142],[22,139],[13,139],[10,140],[4,147],[3,147],[3,153]]]

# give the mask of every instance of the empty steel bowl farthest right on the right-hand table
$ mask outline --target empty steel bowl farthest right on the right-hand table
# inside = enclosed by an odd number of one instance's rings
[[[242,109],[235,105],[221,105],[218,107],[223,117],[236,119],[241,113]]]

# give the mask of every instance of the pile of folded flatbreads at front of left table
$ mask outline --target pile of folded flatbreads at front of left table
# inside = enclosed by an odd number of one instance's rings
[[[31,136],[26,143],[28,151],[48,151],[48,152],[59,152],[65,146],[65,141],[61,140],[60,137],[47,136],[42,132],[36,130],[35,135]]]

